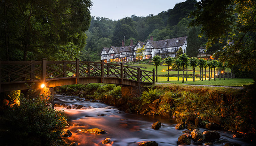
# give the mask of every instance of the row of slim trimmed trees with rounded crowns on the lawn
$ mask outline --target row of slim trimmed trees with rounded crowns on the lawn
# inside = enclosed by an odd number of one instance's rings
[[[156,82],[157,82],[157,66],[160,65],[161,63],[161,57],[160,56],[154,56],[153,57],[153,62],[156,66]],[[205,70],[205,80],[206,80],[206,69],[208,68],[208,80],[210,81],[212,79],[212,69],[213,69],[213,76],[214,76],[214,81],[216,80],[215,76],[215,70],[216,68],[219,67],[219,80],[221,78],[221,73],[223,73],[223,79],[225,80],[225,68],[228,68],[228,64],[225,62],[219,62],[217,60],[204,60],[203,58],[196,58],[196,57],[190,57],[186,54],[181,54],[179,57],[176,59],[168,57],[164,59],[165,64],[168,65],[168,76],[167,76],[167,81],[169,81],[169,70],[170,66],[176,65],[177,66],[177,71],[178,71],[178,81],[179,81],[179,71],[180,67],[182,67],[183,72],[182,72],[182,83],[184,83],[184,70],[186,68],[186,81],[188,80],[188,66],[192,67],[192,80],[193,82],[195,81],[195,72],[196,72],[196,67],[200,68],[200,74],[199,74],[199,79],[203,81],[203,76],[204,73],[203,71]],[[223,72],[221,72],[223,70]],[[231,71],[231,78],[232,78],[232,71]],[[228,72],[228,79],[229,79],[229,72]]]

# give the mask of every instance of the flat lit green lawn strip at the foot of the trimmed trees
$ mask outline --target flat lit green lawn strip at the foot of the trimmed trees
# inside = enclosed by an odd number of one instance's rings
[[[192,78],[188,78],[188,81],[186,81],[186,78],[184,77],[184,82],[182,83],[182,77],[180,77],[180,81],[177,81],[177,77],[170,77],[170,81],[167,82],[167,77],[157,77],[158,83],[173,83],[173,84],[196,84],[196,85],[216,85],[216,86],[235,86],[235,87],[242,87],[243,85],[249,85],[253,84],[253,79],[250,78],[234,78],[234,79],[225,79],[216,78],[216,81],[214,79],[208,81],[203,80],[200,81],[199,78],[195,79],[195,82],[192,81]]]

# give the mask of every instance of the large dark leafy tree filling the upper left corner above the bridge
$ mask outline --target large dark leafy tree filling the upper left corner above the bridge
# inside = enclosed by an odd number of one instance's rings
[[[16,56],[22,55],[25,61],[56,53],[78,54],[85,45],[91,6],[90,0],[1,1],[0,45],[5,52],[1,59],[20,60]],[[10,53],[15,55],[10,58]]]

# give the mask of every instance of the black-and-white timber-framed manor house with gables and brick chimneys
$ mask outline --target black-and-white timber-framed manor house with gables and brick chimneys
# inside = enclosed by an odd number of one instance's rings
[[[138,60],[139,54],[137,54],[136,51],[143,46],[145,46],[145,51],[143,52],[142,60],[152,59],[155,55],[159,55],[161,58],[176,57],[180,47],[182,48],[183,52],[186,53],[187,38],[187,36],[184,36],[154,41],[153,36],[150,36],[150,39],[146,40],[146,42],[137,41],[135,45],[133,45],[133,40],[131,40],[131,44],[129,46],[124,46],[123,40],[121,47],[111,46],[108,49],[107,47],[103,47],[101,52],[101,60],[104,60],[104,62],[125,62]],[[107,54],[105,53],[106,50],[108,50]]]

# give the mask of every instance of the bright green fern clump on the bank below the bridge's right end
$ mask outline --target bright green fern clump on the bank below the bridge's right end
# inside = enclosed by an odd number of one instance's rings
[[[148,91],[143,91],[142,95],[141,95],[141,100],[142,100],[142,105],[144,104],[148,104],[151,101],[159,98],[160,93],[155,89],[149,89]]]

